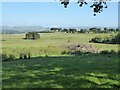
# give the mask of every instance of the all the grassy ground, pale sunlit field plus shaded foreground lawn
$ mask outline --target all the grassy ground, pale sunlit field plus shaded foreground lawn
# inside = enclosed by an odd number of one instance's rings
[[[17,58],[20,53],[32,54],[31,59],[2,62],[3,88],[120,87],[117,54],[61,55],[65,46],[81,43],[98,51],[118,50],[114,44],[89,43],[98,35],[110,34],[41,33],[38,40],[22,39],[25,34],[2,35],[3,53]]]

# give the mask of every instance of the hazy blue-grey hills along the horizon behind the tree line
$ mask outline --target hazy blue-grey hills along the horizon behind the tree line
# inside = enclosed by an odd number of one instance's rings
[[[104,27],[95,26],[96,28],[103,29]],[[9,27],[9,26],[0,26],[2,28],[2,32],[5,34],[20,34],[20,33],[26,33],[26,32],[39,32],[39,31],[49,31],[51,27],[42,27],[42,26],[16,26],[16,27]],[[71,27],[60,27],[60,28],[75,28],[77,30],[79,29],[89,29],[90,26],[71,26]],[[110,28],[110,27],[107,27]]]

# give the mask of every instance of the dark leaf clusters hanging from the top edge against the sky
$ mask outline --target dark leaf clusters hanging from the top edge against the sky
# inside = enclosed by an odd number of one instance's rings
[[[64,5],[64,8],[67,8],[69,1],[70,0],[60,0],[61,4]],[[93,8],[94,16],[96,16],[97,13],[101,13],[103,11],[103,8],[108,8],[106,4],[107,0],[92,0],[92,1],[94,2],[90,7]],[[88,4],[85,0],[78,0],[77,3],[79,4],[80,7]]]

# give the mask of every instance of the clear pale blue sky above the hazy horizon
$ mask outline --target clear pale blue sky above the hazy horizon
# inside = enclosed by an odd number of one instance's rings
[[[4,26],[104,26],[118,27],[118,3],[108,3],[108,9],[93,16],[88,5],[70,3],[64,8],[59,2],[3,2]],[[0,13],[1,16],[1,13]]]

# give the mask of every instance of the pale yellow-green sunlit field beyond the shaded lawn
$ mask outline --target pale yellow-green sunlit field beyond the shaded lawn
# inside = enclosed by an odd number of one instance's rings
[[[110,34],[69,34],[69,33],[41,33],[38,40],[24,40],[25,34],[2,35],[3,53],[14,54],[31,52],[32,56],[61,55],[65,46],[71,44],[92,44],[97,51],[118,50],[118,45],[89,43],[91,38]],[[114,35],[114,34],[113,34]],[[68,42],[70,40],[70,42]]]

